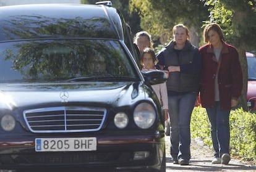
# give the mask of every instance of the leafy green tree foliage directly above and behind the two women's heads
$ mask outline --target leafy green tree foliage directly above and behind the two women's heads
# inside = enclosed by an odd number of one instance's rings
[[[207,20],[209,15],[207,7],[200,0],[130,0],[129,6],[130,10],[139,12],[140,26],[153,38],[165,36],[171,39],[173,26],[184,23],[191,28],[192,38],[198,38],[195,44],[199,43],[202,21]]]

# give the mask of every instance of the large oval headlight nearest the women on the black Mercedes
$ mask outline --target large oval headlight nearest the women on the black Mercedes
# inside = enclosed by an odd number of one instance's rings
[[[134,110],[134,121],[139,128],[150,128],[156,120],[156,112],[154,107],[148,103],[137,105]]]

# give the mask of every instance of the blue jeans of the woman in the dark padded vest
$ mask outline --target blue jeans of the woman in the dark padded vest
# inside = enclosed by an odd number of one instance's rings
[[[174,160],[190,160],[190,119],[196,97],[196,92],[168,96],[171,156]]]

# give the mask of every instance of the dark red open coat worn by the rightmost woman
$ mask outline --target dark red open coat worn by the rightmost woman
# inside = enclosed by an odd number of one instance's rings
[[[202,55],[200,100],[202,107],[210,108],[215,103],[215,76],[218,62],[210,44],[200,47],[199,52]],[[242,69],[236,48],[224,43],[219,61],[220,105],[222,110],[229,110],[231,98],[238,99],[242,92]]]

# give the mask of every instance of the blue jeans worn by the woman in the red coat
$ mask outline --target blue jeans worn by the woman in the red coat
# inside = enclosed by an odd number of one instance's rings
[[[215,157],[221,157],[223,154],[229,154],[229,113],[230,110],[221,110],[220,102],[215,102],[213,108],[207,108],[207,114],[211,123],[211,139]]]

